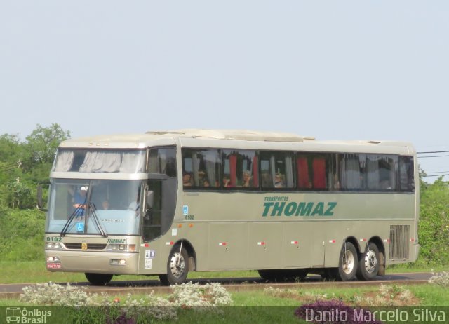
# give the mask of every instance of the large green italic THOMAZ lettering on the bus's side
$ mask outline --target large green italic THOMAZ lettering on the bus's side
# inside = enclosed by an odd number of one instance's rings
[[[286,201],[264,203],[262,217],[270,216],[333,216],[336,202],[295,203]]]

